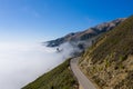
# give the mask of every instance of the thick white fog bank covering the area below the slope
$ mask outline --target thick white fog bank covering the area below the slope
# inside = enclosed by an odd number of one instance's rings
[[[62,47],[58,53],[41,43],[0,43],[0,89],[20,89],[63,62],[73,49]]]

